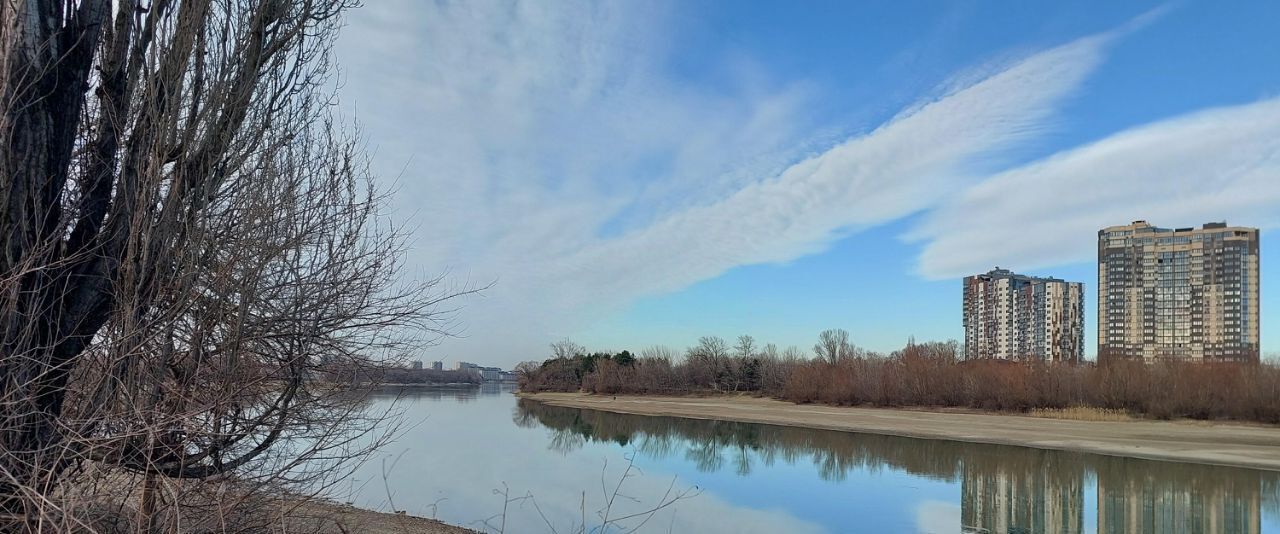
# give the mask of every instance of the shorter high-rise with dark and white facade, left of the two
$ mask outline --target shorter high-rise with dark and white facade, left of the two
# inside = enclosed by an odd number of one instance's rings
[[[1084,284],[996,268],[964,279],[965,359],[1079,362]]]

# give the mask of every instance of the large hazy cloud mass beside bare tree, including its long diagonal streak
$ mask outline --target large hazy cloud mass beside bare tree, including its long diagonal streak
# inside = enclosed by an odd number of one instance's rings
[[[342,95],[399,177],[411,263],[498,280],[461,316],[472,337],[433,357],[536,357],[635,298],[929,209],[1050,127],[1111,38],[975,69],[819,147],[803,81],[672,73],[668,12],[380,0],[351,17]]]

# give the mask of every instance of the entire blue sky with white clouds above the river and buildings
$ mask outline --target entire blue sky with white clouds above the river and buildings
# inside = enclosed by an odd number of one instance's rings
[[[960,339],[965,275],[1085,284],[1097,231],[1262,229],[1280,352],[1280,3],[420,1],[348,14],[422,360],[513,366],[820,330]]]

